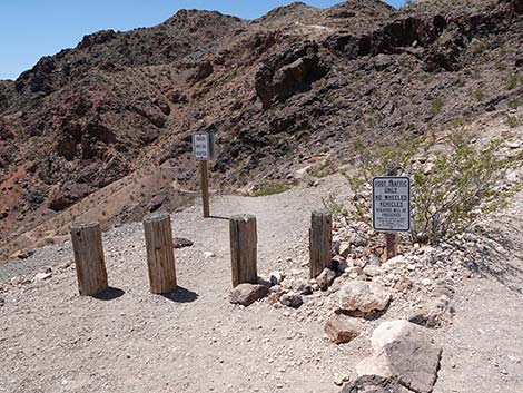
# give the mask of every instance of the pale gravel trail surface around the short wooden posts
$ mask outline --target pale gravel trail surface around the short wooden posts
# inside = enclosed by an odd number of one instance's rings
[[[334,176],[276,196],[215,197],[213,215],[256,215],[260,275],[280,269],[305,278],[310,210],[328,191],[344,189]],[[512,262],[521,269],[523,228],[517,216],[509,216],[517,224]],[[0,392],[335,393],[336,375],[354,377],[368,355],[376,324],[405,313],[391,307],[379,321],[366,322],[361,337],[336,346],[323,337],[326,315],[318,305],[325,296],[307,297],[297,311],[228,303],[226,219],[204,220],[196,206],[174,215],[172,227],[195,245],[176,250],[182,289],[169,297],[148,293],[140,224],[105,234],[110,298],[77,294],[72,266],[63,268],[71,259],[68,245],[1,266],[3,281],[55,267],[48,281],[0,294]],[[216,256],[206,258],[205,252]],[[520,291],[485,276],[457,288],[454,323],[434,333],[444,347],[436,393],[523,391],[523,285],[514,285]]]

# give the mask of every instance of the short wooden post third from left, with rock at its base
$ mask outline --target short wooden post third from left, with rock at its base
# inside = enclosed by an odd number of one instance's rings
[[[233,287],[241,283],[256,284],[257,234],[256,217],[241,214],[230,217],[230,259],[233,266]]]

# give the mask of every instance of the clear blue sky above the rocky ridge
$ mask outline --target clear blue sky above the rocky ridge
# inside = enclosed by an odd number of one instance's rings
[[[16,79],[40,57],[75,47],[85,35],[158,24],[184,8],[254,19],[292,0],[0,0],[0,79]],[[330,7],[339,0],[305,0]],[[403,0],[387,0],[399,7]]]

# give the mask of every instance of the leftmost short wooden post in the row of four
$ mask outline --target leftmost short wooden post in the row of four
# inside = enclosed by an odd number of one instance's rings
[[[92,296],[106,292],[109,285],[100,225],[97,222],[72,224],[71,240],[80,295]]]

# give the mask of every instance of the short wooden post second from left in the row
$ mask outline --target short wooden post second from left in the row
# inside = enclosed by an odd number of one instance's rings
[[[154,213],[144,218],[149,286],[152,294],[176,289],[175,252],[170,216]]]

